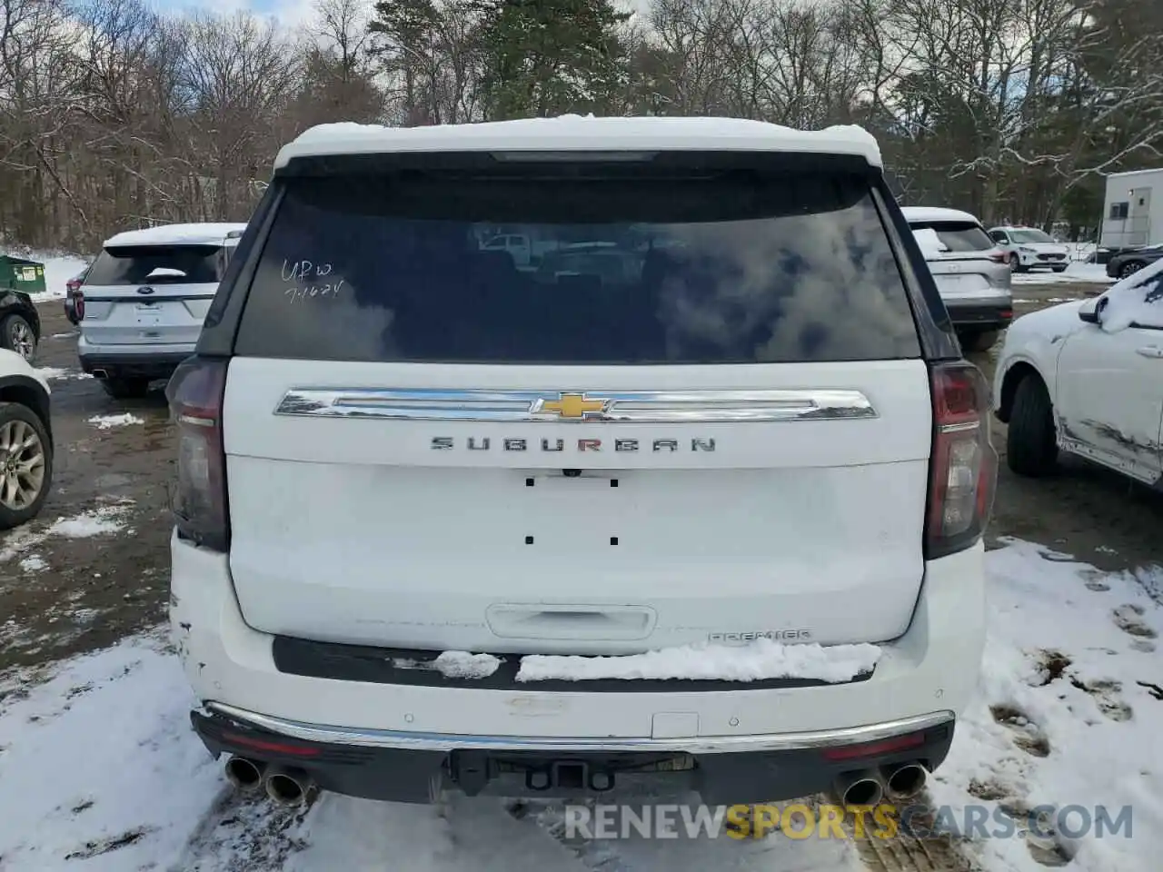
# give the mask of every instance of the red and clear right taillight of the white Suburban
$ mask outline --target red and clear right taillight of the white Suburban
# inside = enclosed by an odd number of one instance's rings
[[[936,364],[933,457],[925,523],[925,556],[969,548],[985,533],[997,487],[998,456],[990,444],[990,388],[970,363]]]

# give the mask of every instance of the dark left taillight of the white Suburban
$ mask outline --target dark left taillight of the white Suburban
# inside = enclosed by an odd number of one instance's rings
[[[226,371],[226,360],[191,357],[165,388],[178,428],[174,524],[181,538],[215,551],[226,551],[230,541],[222,443]]]

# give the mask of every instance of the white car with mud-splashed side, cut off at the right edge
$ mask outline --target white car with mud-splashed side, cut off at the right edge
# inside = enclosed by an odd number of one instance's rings
[[[1163,260],[1014,321],[994,410],[1014,472],[1048,474],[1069,451],[1163,487]]]

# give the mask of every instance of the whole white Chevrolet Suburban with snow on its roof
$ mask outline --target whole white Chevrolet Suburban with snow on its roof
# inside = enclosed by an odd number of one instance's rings
[[[314,128],[167,394],[193,724],[276,800],[875,802],[975,689],[989,388],[858,129]]]

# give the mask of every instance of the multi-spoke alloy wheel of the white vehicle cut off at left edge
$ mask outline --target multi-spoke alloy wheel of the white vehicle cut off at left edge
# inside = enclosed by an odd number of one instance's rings
[[[28,406],[0,402],[0,530],[31,521],[52,483],[52,442]]]

